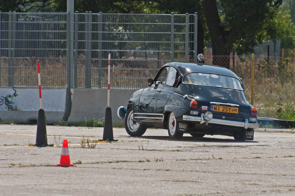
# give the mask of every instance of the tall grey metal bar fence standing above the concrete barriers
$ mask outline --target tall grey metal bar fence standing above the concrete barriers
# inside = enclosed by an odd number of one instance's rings
[[[197,14],[0,13],[0,86],[141,88],[170,61],[196,60]]]

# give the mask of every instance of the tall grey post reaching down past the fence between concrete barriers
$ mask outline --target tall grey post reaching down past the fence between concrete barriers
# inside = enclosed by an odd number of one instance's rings
[[[67,87],[68,87],[68,116],[71,113],[72,98],[71,98],[71,12],[67,13]]]

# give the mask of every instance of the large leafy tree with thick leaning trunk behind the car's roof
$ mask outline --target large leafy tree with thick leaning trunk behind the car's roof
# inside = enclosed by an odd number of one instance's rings
[[[276,37],[276,25],[269,23],[276,16],[281,0],[205,0],[204,15],[208,26],[213,64],[229,67],[230,52],[238,55],[253,52],[268,35]],[[217,6],[221,7],[219,11]]]

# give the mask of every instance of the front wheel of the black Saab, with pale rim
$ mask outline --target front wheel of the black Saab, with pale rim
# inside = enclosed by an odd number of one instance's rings
[[[129,110],[126,113],[125,117],[125,129],[126,132],[131,136],[142,136],[145,131],[147,130],[147,127],[140,124],[140,123],[133,123],[133,108],[129,108]]]

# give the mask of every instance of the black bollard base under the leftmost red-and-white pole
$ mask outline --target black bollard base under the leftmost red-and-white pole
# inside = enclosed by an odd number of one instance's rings
[[[37,135],[36,135],[35,146],[48,146],[47,133],[46,133],[45,111],[43,109],[40,109],[38,112]],[[50,146],[52,146],[52,145],[50,145]]]

